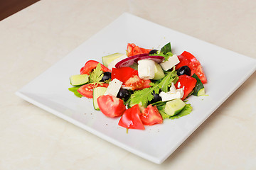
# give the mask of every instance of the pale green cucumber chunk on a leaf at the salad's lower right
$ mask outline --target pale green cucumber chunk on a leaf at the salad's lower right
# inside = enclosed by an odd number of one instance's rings
[[[186,103],[181,101],[180,98],[174,99],[166,103],[164,112],[170,116],[176,115],[186,106]]]

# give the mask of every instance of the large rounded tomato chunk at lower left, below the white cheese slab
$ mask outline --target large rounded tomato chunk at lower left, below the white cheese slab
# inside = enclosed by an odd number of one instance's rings
[[[124,101],[111,95],[103,95],[98,97],[97,103],[100,111],[110,118],[120,116],[124,113],[124,111],[126,111]]]

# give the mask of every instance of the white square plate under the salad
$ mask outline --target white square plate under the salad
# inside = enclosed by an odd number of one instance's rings
[[[201,62],[208,78],[205,85],[208,96],[188,98],[188,103],[193,106],[190,115],[127,133],[125,128],[117,125],[119,118],[107,118],[94,110],[91,99],[78,98],[68,91],[71,87],[69,77],[79,74],[87,60],[102,62],[104,55],[125,53],[128,42],[155,49],[171,42],[175,54],[184,50],[191,52]],[[124,13],[16,94],[114,145],[161,164],[255,72],[255,68],[256,60],[250,57]]]

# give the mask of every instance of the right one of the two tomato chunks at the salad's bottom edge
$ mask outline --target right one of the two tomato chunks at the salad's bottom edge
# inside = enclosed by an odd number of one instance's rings
[[[152,106],[151,104],[144,108],[142,114],[140,115],[143,125],[154,125],[156,123],[163,123],[163,118],[159,113],[156,106]]]

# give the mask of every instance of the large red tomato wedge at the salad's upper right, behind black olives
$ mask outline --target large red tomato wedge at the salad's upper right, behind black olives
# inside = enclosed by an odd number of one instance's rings
[[[206,74],[203,72],[203,67],[201,66],[201,63],[196,60],[195,56],[184,51],[181,55],[178,55],[178,60],[180,62],[176,64],[176,70],[186,65],[191,69],[191,76],[195,73],[203,84],[207,83]]]

